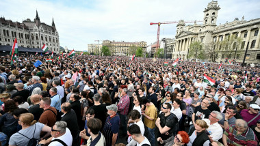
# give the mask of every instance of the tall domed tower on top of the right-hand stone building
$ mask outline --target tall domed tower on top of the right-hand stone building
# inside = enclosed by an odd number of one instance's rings
[[[218,18],[218,10],[220,10],[220,6],[218,5],[218,1],[211,1],[207,8],[205,8],[204,12],[204,25],[215,25],[217,23]]]

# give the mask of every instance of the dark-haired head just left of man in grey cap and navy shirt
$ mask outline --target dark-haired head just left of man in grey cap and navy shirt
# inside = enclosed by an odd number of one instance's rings
[[[102,122],[100,119],[97,118],[92,118],[92,119],[88,119],[88,133],[92,133],[94,135],[99,134],[99,131],[102,128]]]

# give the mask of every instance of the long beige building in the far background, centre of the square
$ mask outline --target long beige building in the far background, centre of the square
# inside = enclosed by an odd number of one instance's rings
[[[144,55],[146,53],[146,42],[115,42],[110,40],[103,40],[103,46],[108,46],[112,55],[131,55],[134,49],[141,47],[143,49]]]

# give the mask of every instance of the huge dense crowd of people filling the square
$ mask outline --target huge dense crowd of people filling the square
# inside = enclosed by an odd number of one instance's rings
[[[259,68],[48,57],[1,57],[1,145],[259,145]]]

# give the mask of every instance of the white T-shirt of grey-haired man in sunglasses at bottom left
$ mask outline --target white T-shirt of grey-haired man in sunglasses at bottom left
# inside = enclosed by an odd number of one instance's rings
[[[52,138],[51,141],[53,141],[54,139],[60,139],[64,143],[66,143],[68,146],[71,146],[73,144],[73,136],[71,135],[70,130],[68,128],[66,128],[65,134],[63,134],[62,136],[57,137],[57,138]],[[54,142],[50,143],[49,146],[63,146],[63,145],[62,145],[62,143],[60,143],[58,141],[54,141]]]

